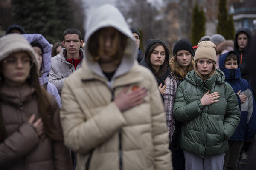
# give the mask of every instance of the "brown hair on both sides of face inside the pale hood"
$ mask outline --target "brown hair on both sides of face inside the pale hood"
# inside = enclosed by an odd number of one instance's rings
[[[101,28],[94,32],[88,40],[88,51],[93,56],[93,62],[98,62],[100,56],[103,54],[103,35],[102,31],[106,28]],[[116,29],[115,29],[116,30]],[[127,37],[120,31],[115,31],[115,37],[113,41],[113,50],[111,55],[113,59],[120,59],[123,56],[125,47],[127,45]]]

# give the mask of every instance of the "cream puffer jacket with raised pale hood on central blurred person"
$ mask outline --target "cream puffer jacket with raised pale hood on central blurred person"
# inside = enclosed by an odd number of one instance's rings
[[[110,80],[88,50],[88,40],[101,28],[115,28],[127,37]],[[157,82],[138,65],[134,37],[120,11],[111,5],[98,8],[85,41],[85,62],[65,80],[61,93],[64,142],[77,153],[76,170],[172,170]],[[147,90],[143,102],[120,111],[115,98],[136,86]]]

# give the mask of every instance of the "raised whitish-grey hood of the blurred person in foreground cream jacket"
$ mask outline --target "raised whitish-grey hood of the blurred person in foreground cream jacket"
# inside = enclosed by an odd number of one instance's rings
[[[110,81],[110,84],[113,84],[113,79],[115,79],[115,77],[125,74],[131,70],[132,66],[134,65],[135,59],[137,59],[137,49],[134,43],[134,36],[131,33],[130,27],[126,23],[125,18],[123,17],[121,12],[116,7],[111,6],[109,4],[99,7],[98,9],[96,9],[96,11],[94,11],[87,25],[85,34],[86,45],[84,49],[86,62],[83,63],[83,65],[87,64],[90,70],[93,71],[95,74],[98,74],[99,76],[107,79],[103,74],[99,63],[92,62],[92,55],[88,50],[87,42],[94,32],[98,31],[101,28],[106,27],[113,27],[128,37],[128,43],[126,45],[121,63],[116,69],[115,74],[113,75]]]

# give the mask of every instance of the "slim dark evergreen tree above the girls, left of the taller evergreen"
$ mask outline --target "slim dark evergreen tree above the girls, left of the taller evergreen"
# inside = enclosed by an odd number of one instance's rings
[[[192,45],[197,45],[198,41],[205,34],[205,15],[202,9],[198,9],[198,5],[195,4],[193,9],[193,19],[192,19],[192,33],[191,42]]]

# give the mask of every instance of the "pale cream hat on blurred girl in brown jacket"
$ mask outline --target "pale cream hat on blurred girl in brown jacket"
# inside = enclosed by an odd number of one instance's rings
[[[38,57],[29,42],[20,34],[7,34],[0,38],[0,62],[17,51],[26,51],[39,70]]]

